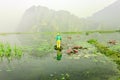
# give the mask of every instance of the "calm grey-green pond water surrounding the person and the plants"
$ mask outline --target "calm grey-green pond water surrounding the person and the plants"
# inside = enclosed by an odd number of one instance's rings
[[[66,37],[71,36],[68,40]],[[114,39],[120,41],[119,33],[112,34],[84,34],[67,35],[62,34],[64,49],[61,52],[61,60],[56,59],[57,51],[52,50],[44,56],[30,55],[30,51],[24,51],[21,59],[13,59],[10,63],[6,59],[0,61],[0,80],[116,80],[120,75],[117,65],[110,58],[101,53],[93,54],[96,48],[87,45],[85,41],[95,38],[101,42]],[[55,44],[55,35],[45,34],[19,34],[0,36],[3,42],[12,45],[27,46],[36,49],[40,44],[48,42]],[[66,50],[75,45],[75,42],[82,42],[88,46],[88,50],[80,50],[76,55],[67,55]],[[36,52],[33,52],[34,54]],[[46,52],[37,52],[44,54]],[[66,78],[66,79],[64,79]]]

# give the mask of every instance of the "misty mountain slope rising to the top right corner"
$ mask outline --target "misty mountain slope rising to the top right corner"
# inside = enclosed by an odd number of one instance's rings
[[[95,13],[89,20],[100,23],[106,29],[120,28],[120,0]]]

